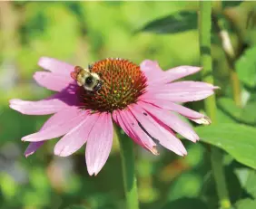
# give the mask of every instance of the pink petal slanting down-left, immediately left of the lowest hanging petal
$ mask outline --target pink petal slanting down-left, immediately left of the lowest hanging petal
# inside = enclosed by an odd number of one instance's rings
[[[88,114],[82,122],[77,123],[73,129],[58,141],[54,147],[54,154],[60,157],[67,157],[81,148],[89,138],[88,135],[98,118],[98,114]]]

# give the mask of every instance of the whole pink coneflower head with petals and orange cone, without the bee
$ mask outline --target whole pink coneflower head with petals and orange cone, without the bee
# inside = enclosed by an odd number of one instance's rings
[[[88,173],[97,175],[111,151],[113,121],[154,155],[158,154],[157,145],[162,145],[180,156],[187,152],[175,133],[192,142],[199,137],[179,114],[199,124],[211,123],[201,113],[177,103],[203,100],[213,94],[216,87],[212,84],[176,81],[200,71],[199,67],[162,71],[158,62],[150,60],[138,66],[124,59],[105,59],[91,66],[92,72],[101,75],[103,86],[88,94],[72,79],[73,65],[47,57],[41,58],[38,65],[47,71],[35,72],[34,80],[57,93],[38,101],[10,100],[10,107],[27,115],[54,115],[38,132],[22,138],[30,142],[25,157],[46,140],[64,136],[56,143],[54,154],[70,156],[86,143]]]

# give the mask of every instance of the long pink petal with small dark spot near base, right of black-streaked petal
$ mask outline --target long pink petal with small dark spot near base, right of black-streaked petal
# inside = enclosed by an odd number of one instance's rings
[[[146,113],[139,105],[129,106],[133,115],[142,124],[143,128],[151,137],[159,140],[159,143],[180,156],[187,155],[185,147],[183,147],[180,139],[168,131],[167,128],[160,126],[149,114]],[[170,130],[170,128],[169,128]]]

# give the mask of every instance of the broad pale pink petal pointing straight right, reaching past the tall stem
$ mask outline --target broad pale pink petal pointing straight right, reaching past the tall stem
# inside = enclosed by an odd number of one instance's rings
[[[142,95],[142,99],[170,100],[174,102],[187,102],[203,100],[214,93],[217,87],[212,84],[198,81],[179,81],[153,88],[149,86],[148,92]]]

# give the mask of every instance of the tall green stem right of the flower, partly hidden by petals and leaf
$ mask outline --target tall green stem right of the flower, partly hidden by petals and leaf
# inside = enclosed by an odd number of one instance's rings
[[[212,54],[211,54],[211,27],[212,27],[212,2],[200,2],[199,14],[199,41],[202,63],[202,81],[213,83],[212,75]],[[215,97],[204,100],[207,115],[216,123],[216,102]],[[215,179],[220,205],[223,209],[231,207],[227,185],[222,166],[222,153],[216,148],[211,148],[212,173]]]

